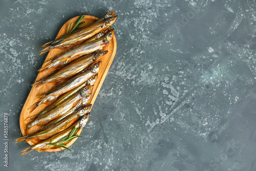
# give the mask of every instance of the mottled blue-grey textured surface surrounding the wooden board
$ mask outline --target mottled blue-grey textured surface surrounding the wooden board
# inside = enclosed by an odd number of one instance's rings
[[[193,10],[192,10],[193,9]],[[256,2],[0,2],[0,170],[256,170]],[[19,114],[46,54],[74,16],[113,10],[117,53],[72,152],[33,151]],[[3,140],[1,140],[3,142]]]

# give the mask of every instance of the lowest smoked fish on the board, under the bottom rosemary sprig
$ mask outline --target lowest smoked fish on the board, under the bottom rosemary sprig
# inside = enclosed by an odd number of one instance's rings
[[[87,115],[84,115],[81,117],[74,125],[68,127],[66,130],[63,130],[59,132],[58,134],[48,138],[47,140],[41,141],[33,146],[30,146],[28,148],[25,148],[22,152],[24,152],[22,155],[28,154],[29,152],[33,151],[34,149],[37,150],[39,153],[45,152],[47,149],[51,149],[54,146],[49,145],[50,142],[57,143],[64,137],[67,137],[71,131],[74,129],[74,127],[82,129],[84,126],[86,126],[88,120],[90,117],[90,113]],[[78,130],[78,131],[79,131]]]

